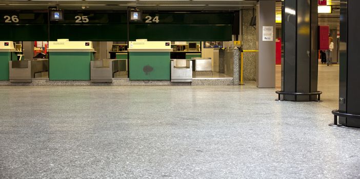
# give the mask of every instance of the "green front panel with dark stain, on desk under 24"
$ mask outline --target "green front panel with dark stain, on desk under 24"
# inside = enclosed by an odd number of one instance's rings
[[[170,80],[170,52],[130,52],[130,80]]]

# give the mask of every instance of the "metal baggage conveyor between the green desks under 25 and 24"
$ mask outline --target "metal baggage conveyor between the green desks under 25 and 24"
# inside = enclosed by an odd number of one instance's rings
[[[112,82],[114,73],[119,72],[117,59],[104,59],[91,61],[91,82]]]

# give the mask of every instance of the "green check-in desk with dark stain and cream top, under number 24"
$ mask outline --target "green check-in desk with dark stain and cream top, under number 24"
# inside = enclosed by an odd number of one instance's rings
[[[170,41],[129,42],[130,80],[170,80]]]

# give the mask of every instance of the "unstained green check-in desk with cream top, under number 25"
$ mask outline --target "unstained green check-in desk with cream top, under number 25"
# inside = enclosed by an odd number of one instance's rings
[[[91,41],[49,42],[49,80],[90,80]]]

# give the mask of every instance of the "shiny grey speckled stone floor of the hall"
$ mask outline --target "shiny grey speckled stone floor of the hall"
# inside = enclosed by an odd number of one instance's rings
[[[324,102],[254,85],[1,86],[0,178],[360,178],[334,78]]]

